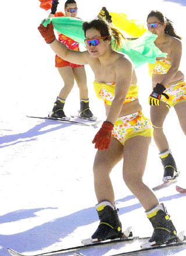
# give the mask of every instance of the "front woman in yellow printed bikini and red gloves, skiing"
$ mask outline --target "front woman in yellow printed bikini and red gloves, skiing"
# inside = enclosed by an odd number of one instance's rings
[[[78,52],[56,40],[52,22],[47,27],[41,24],[38,30],[60,58],[78,65],[90,65],[95,75],[96,95],[105,102],[107,118],[92,141],[98,149],[93,169],[100,223],[91,239],[124,236],[110,180],[111,170],[121,159],[124,182],[144,207],[154,228],[148,246],[176,239],[176,229],[166,208],[159,204],[156,195],[142,180],[153,129],[151,121],[141,112],[133,63],[112,47],[113,44],[120,47],[123,36],[103,19],[84,22],[87,51]]]

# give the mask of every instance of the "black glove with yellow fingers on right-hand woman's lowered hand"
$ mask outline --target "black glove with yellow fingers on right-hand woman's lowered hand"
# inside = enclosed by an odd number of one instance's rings
[[[149,96],[149,105],[159,106],[162,95],[169,99],[169,96],[166,93],[163,93],[164,90],[166,90],[166,88],[162,84],[156,84],[156,87],[153,88],[153,92]]]

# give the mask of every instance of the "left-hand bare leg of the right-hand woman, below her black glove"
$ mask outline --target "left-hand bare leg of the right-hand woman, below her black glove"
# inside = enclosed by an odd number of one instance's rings
[[[167,113],[169,113],[169,108],[164,102],[160,102],[160,106],[151,106],[151,121],[154,128],[153,138],[160,152],[169,149],[169,143],[163,133],[163,123]]]

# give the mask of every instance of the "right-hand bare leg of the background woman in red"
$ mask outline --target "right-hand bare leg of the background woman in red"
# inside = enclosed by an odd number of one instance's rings
[[[84,67],[76,67],[73,69],[74,78],[80,89],[80,99],[88,99],[87,76]]]

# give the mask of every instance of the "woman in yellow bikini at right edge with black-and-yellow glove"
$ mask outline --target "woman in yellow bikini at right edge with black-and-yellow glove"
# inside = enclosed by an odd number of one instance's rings
[[[178,70],[182,53],[181,37],[174,31],[172,22],[157,10],[149,13],[147,24],[148,30],[158,35],[156,47],[167,53],[167,58],[157,58],[154,64],[149,64],[153,87],[149,97],[153,137],[164,167],[163,182],[167,182],[178,176],[176,163],[163,133],[163,123],[172,106],[186,134],[186,83],[184,74]]]

